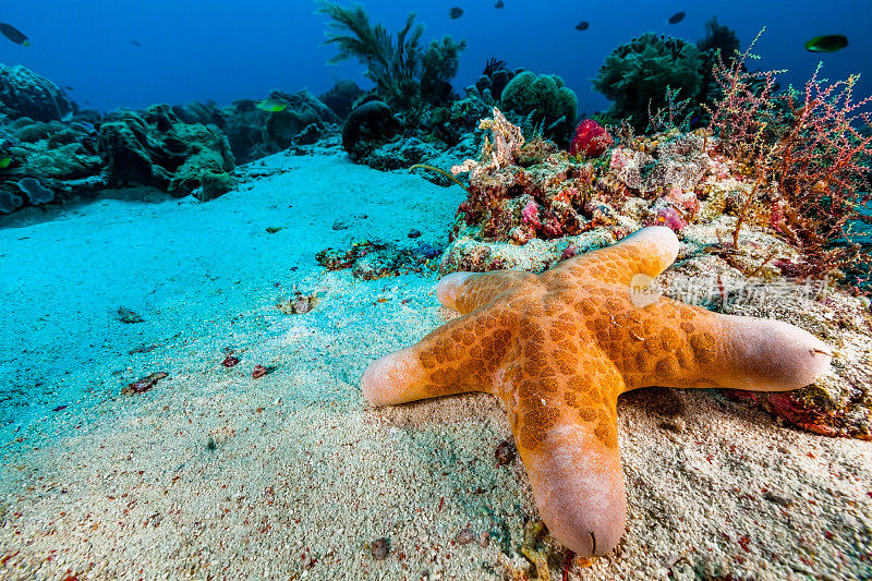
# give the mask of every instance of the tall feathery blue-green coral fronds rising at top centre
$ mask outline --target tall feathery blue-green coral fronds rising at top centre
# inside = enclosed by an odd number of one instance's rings
[[[446,35],[424,46],[424,26],[415,24],[414,12],[396,35],[382,24],[373,26],[361,4],[346,8],[322,0],[317,12],[330,19],[326,44],[339,49],[328,62],[356,59],[364,64],[376,94],[407,123],[420,122],[428,107],[449,100],[464,40]]]

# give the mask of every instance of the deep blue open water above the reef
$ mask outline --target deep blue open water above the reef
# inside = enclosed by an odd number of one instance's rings
[[[409,11],[427,25],[425,39],[443,34],[464,38],[455,85],[475,81],[491,57],[538,73],[559,74],[576,90],[580,112],[607,107],[589,80],[618,44],[646,31],[688,40],[704,34],[703,24],[717,15],[735,28],[743,44],[766,26],[758,46],[760,65],[788,69],[784,82],[802,83],[819,60],[829,78],[864,73],[858,95],[872,93],[872,4],[868,0],[803,1],[641,1],[606,0],[440,0],[364,2],[374,22],[400,27]],[[353,62],[326,66],[335,49],[322,45],[326,19],[314,14],[310,0],[88,1],[36,0],[3,2],[0,21],[31,37],[31,47],[0,38],[0,62],[21,63],[71,93],[80,106],[108,110],[154,102],[261,98],[270,89],[310,88],[319,94],[337,78],[366,86]],[[448,17],[451,7],[464,10]],[[685,11],[675,25],[667,19]],[[574,29],[589,21],[588,31]],[[840,52],[816,55],[803,49],[810,37],[845,34],[850,45]],[[135,40],[142,46],[131,43]]]

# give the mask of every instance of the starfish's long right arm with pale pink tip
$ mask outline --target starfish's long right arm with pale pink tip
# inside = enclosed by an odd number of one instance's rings
[[[628,389],[784,391],[811,384],[832,360],[826,343],[779,320],[722,315],[665,298],[626,313],[613,317],[617,332],[600,334],[598,343]]]

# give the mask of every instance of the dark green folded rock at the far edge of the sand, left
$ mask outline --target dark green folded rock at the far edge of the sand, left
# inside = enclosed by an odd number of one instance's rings
[[[111,182],[154,185],[177,197],[202,185],[205,173],[227,173],[234,159],[215,126],[183,123],[166,105],[122,110],[99,129],[100,155]]]

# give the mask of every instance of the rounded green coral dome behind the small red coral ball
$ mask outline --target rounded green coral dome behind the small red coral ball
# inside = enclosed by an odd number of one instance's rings
[[[542,126],[545,136],[558,145],[569,145],[579,102],[574,92],[559,76],[536,75],[531,71],[517,74],[502,89],[500,106],[504,110],[530,116]]]

